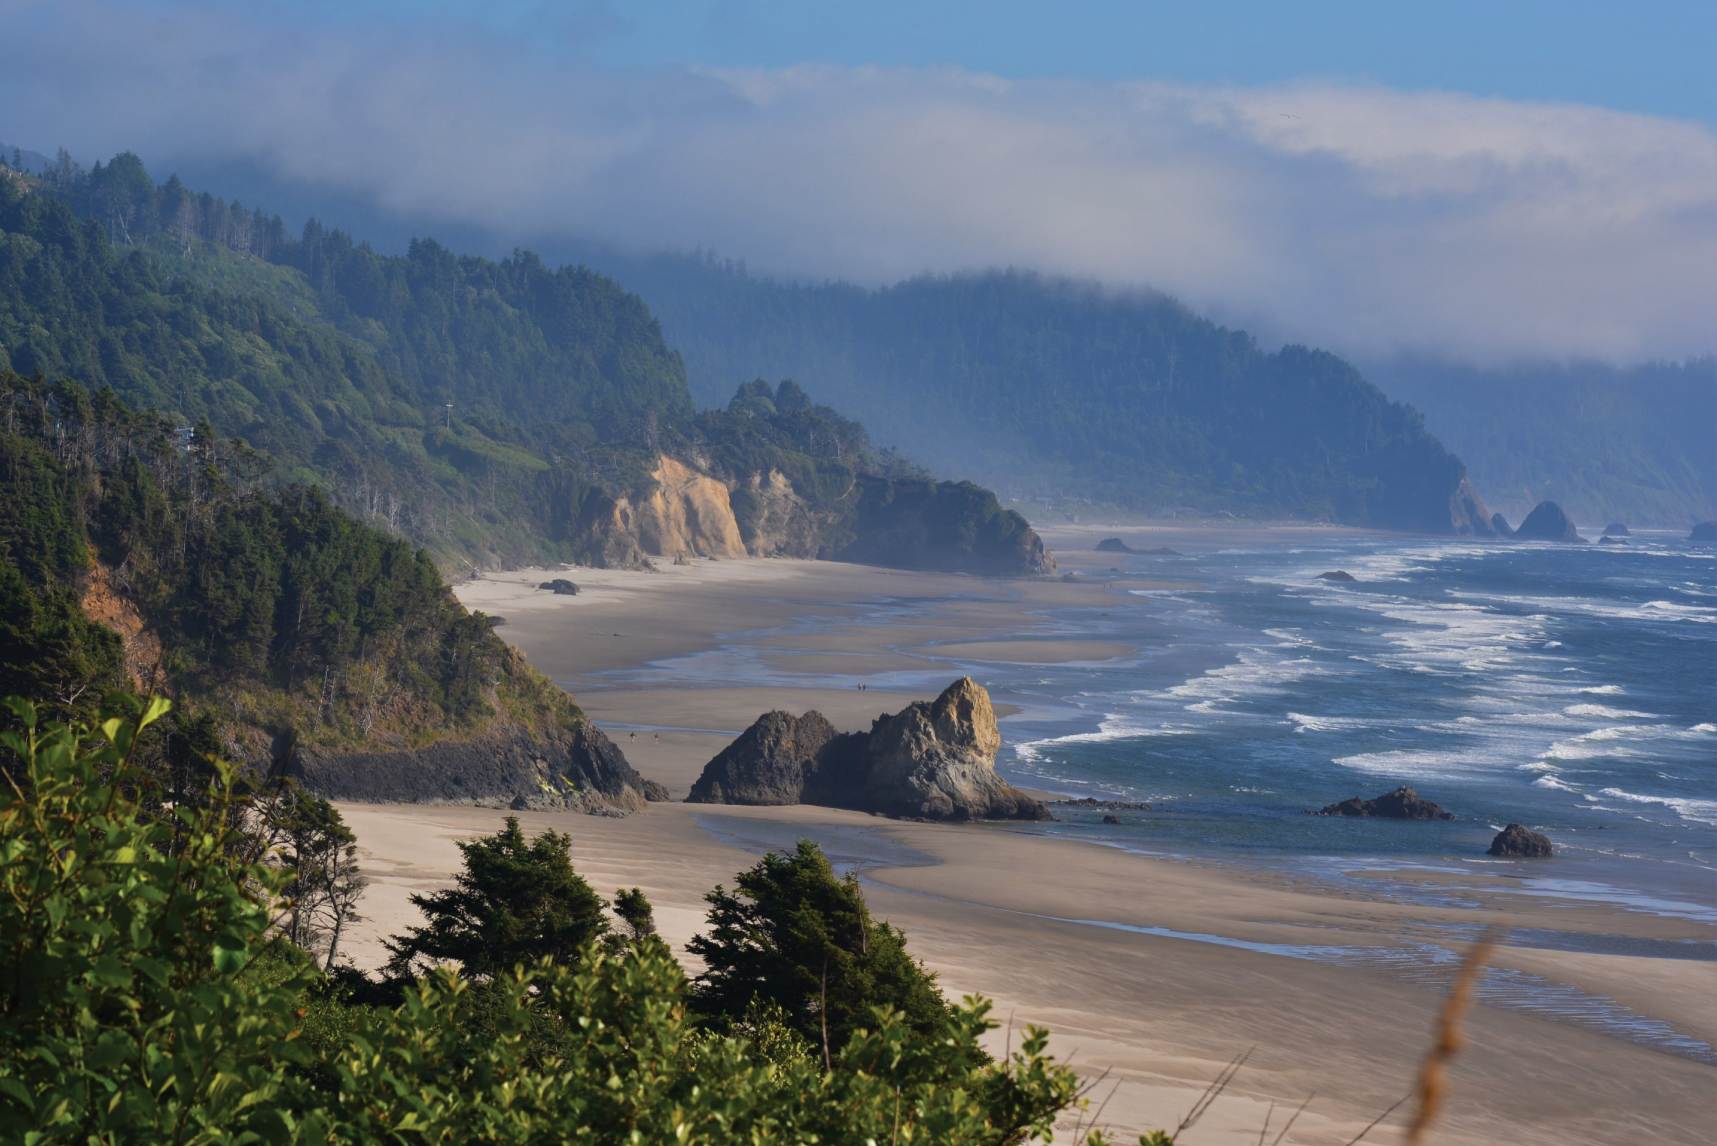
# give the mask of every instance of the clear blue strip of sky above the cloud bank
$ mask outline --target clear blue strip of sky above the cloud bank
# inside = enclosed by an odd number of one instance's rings
[[[367,0],[367,10],[469,19],[634,65],[951,64],[1011,79],[1247,86],[1317,77],[1717,119],[1714,0]]]

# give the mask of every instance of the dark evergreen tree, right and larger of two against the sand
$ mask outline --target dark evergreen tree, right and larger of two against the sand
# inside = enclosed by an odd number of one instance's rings
[[[709,933],[687,947],[704,960],[699,1009],[740,1019],[766,1000],[822,1048],[845,1045],[877,1005],[924,1038],[946,1026],[936,976],[907,954],[905,935],[871,917],[858,880],[836,878],[810,840],[764,856],[731,892],[718,887],[706,899]]]

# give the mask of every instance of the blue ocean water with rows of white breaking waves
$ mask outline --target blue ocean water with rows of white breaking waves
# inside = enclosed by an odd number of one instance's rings
[[[1053,622],[1140,655],[982,668],[1023,706],[999,766],[1166,809],[1109,828],[1159,850],[1473,859],[1523,823],[1569,861],[1545,893],[1717,921],[1717,553],[1683,536],[1116,555]],[[1303,814],[1403,783],[1458,820]]]

